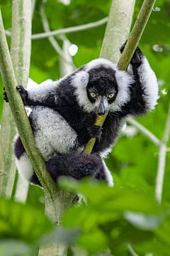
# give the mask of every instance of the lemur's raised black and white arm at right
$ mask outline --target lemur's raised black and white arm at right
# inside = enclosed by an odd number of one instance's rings
[[[130,85],[130,101],[121,108],[123,116],[140,115],[153,110],[159,98],[157,78],[138,47],[130,62],[128,73],[133,75],[135,81]]]

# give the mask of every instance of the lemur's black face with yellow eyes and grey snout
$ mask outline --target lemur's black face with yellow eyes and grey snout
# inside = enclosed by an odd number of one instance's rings
[[[90,70],[86,92],[96,114],[106,114],[118,94],[115,70],[103,67]]]

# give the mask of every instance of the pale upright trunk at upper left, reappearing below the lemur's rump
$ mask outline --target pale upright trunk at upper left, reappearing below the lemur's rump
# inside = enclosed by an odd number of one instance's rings
[[[13,0],[11,60],[18,85],[27,86],[30,69],[31,0]],[[29,184],[18,176],[15,200],[26,201]]]

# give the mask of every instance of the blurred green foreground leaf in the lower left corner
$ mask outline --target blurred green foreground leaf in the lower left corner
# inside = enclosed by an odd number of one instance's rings
[[[0,198],[0,255],[33,255],[52,228],[42,210]]]

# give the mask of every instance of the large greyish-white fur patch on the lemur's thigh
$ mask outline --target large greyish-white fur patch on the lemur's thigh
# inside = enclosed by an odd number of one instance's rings
[[[42,156],[47,161],[58,153],[69,153],[73,149],[81,151],[77,133],[55,110],[48,107],[34,107],[32,112],[35,125],[35,141]]]

